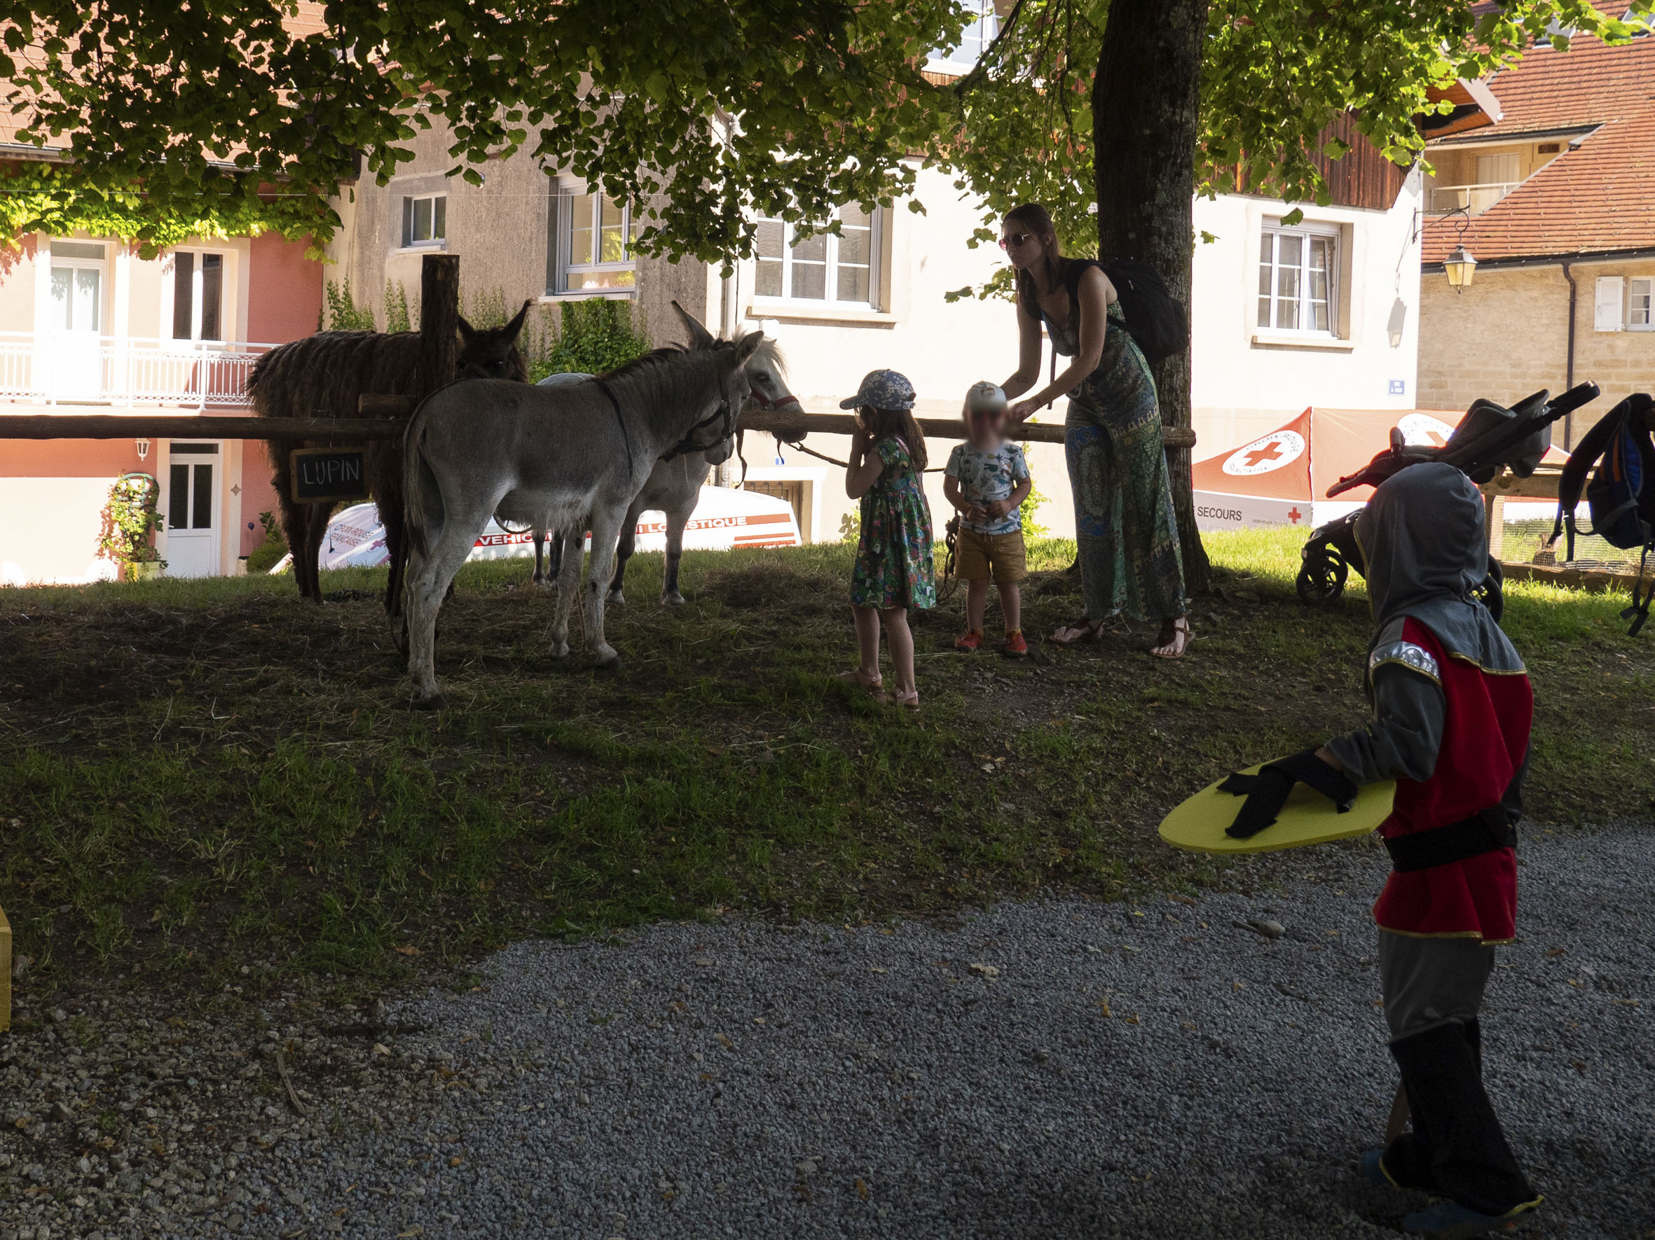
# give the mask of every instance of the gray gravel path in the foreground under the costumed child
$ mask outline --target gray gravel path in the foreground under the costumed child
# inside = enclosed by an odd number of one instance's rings
[[[1648,828],[1524,848],[1485,1027],[1549,1195],[1518,1235],[1655,1235],[1652,851]],[[394,1005],[425,1028],[367,1053],[401,1090],[313,1083],[235,1189],[103,1235],[1395,1237],[1420,1199],[1352,1174],[1395,1085],[1384,861],[1306,858],[1316,881],[1253,896],[520,944],[478,990]],[[0,1240],[26,1237],[5,1209]]]

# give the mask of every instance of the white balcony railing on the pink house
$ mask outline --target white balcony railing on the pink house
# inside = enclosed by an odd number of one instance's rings
[[[247,405],[247,377],[273,344],[0,332],[0,400],[46,405]]]

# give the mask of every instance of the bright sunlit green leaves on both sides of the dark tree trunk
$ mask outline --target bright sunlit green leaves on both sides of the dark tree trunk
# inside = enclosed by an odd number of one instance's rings
[[[1408,165],[1425,147],[1417,117],[1451,109],[1432,101],[1433,91],[1513,63],[1531,40],[1566,50],[1567,31],[1632,38],[1650,3],[1635,0],[1632,20],[1622,20],[1585,0],[1511,0],[1483,13],[1465,0],[1216,0],[1197,184],[1206,195],[1240,180],[1288,202],[1326,203],[1314,155],[1347,149],[1324,144],[1339,114],[1352,112],[1375,147]],[[1096,253],[1091,98],[1107,17],[1107,0],[1018,0],[983,61],[948,93],[955,117],[933,152],[958,174],[958,188],[986,202],[990,227],[973,245],[993,240],[993,220],[1016,203],[1041,202],[1066,250]]]

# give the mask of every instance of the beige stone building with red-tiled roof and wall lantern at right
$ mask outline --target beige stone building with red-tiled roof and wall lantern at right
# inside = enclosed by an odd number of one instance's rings
[[[1567,448],[1655,389],[1652,81],[1652,36],[1539,43],[1488,81],[1488,124],[1428,144],[1422,405],[1592,380],[1604,395],[1552,432]],[[1470,278],[1453,288],[1450,268]]]

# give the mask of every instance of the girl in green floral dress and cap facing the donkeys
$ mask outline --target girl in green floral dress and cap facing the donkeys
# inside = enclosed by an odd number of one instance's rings
[[[914,385],[895,370],[872,370],[839,408],[854,408],[857,432],[844,491],[862,501],[862,537],[851,570],[851,612],[861,663],[839,680],[856,681],[880,701],[917,711],[910,607],[935,607],[930,506],[920,488],[925,436],[914,422]],[[879,628],[890,646],[897,691],[884,693],[879,675]]]

